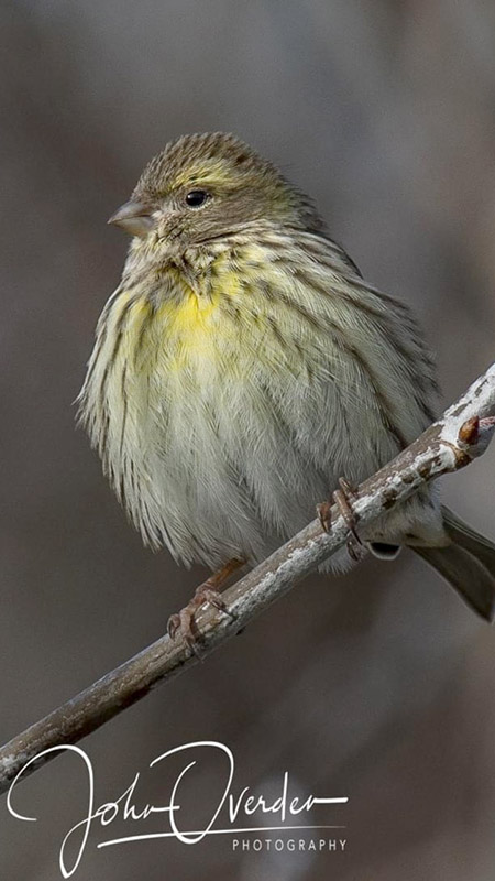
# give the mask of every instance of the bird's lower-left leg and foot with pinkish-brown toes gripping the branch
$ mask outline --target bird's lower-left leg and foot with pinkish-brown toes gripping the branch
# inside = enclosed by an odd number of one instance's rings
[[[200,632],[196,623],[196,612],[208,603],[218,609],[218,611],[230,618],[235,618],[233,612],[227,608],[219,587],[227,581],[229,576],[235,572],[240,566],[245,563],[243,559],[230,559],[221,569],[213,573],[202,585],[199,585],[195,590],[193,599],[180,609],[177,614],[170,614],[167,622],[167,631],[170,639],[175,639],[178,633],[183,637],[190,651],[197,656],[201,657],[200,652]]]

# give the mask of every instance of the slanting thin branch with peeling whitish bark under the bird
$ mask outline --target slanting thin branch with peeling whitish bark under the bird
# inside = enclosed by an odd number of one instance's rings
[[[459,470],[484,453],[495,429],[494,413],[495,363],[438,422],[360,486],[353,503],[360,529],[407,499],[421,485]],[[196,620],[202,656],[233,637],[345,543],[349,530],[336,507],[331,522],[331,532],[327,534],[319,520],[315,520],[224,591],[227,608],[234,617],[211,607],[200,610]],[[182,638],[172,641],[168,635],[162,637],[7,743],[0,750],[0,792],[9,787],[28,762],[31,764],[23,777],[57,755],[57,747],[77,742],[140,700],[155,685],[197,662],[198,657]],[[48,755],[32,761],[46,750],[51,750]]]

